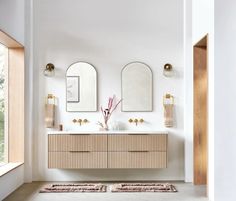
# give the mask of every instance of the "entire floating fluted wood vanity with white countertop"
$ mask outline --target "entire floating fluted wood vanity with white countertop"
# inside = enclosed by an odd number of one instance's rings
[[[166,168],[168,133],[48,133],[48,168]]]

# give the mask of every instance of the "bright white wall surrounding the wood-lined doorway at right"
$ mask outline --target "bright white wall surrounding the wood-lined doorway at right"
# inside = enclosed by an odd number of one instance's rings
[[[185,178],[193,180],[193,65],[192,48],[208,34],[208,195],[214,199],[214,0],[185,1]],[[188,20],[191,18],[192,22]],[[192,30],[189,29],[192,27]],[[190,42],[190,35],[192,41]],[[190,47],[191,46],[191,47]]]

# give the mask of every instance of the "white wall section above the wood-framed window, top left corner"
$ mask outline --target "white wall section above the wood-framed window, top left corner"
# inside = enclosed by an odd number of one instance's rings
[[[24,45],[24,0],[0,0],[0,29]]]

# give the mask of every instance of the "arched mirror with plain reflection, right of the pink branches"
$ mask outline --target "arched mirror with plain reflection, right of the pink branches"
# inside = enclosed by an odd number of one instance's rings
[[[122,70],[122,111],[152,111],[152,71],[141,62],[127,64]]]

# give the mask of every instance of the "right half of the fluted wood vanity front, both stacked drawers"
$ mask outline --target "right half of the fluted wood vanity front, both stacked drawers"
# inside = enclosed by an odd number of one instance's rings
[[[108,135],[108,168],[166,168],[167,135]]]

